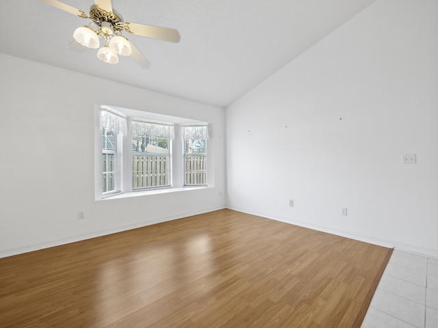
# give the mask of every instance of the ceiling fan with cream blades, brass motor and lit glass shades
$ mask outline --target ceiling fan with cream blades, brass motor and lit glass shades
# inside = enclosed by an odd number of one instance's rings
[[[137,36],[170,42],[179,42],[181,38],[176,29],[124,22],[122,16],[112,9],[111,0],[94,0],[95,5],[90,8],[90,14],[61,1],[40,1],[81,18],[90,18],[92,22],[89,25],[76,29],[73,34],[75,41],[70,43],[68,48],[76,51],[86,48],[97,49],[100,46],[99,38],[103,38],[105,44],[97,52],[97,57],[108,64],[117,64],[118,55],[131,55],[143,68],[151,66],[136,46],[122,35],[123,30]]]

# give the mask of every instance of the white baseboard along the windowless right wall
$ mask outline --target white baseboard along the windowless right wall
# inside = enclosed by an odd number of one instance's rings
[[[247,213],[250,215],[257,215],[258,217],[266,217],[267,219],[272,219],[272,220],[280,221],[283,223],[293,224],[294,226],[299,226],[302,228],[318,230],[321,232],[326,232],[328,234],[335,234],[336,236],[342,236],[345,238],[355,239],[355,241],[363,241],[364,243],[370,243],[373,245],[378,245],[378,246],[387,247],[387,248],[394,248],[394,249],[398,249],[400,251],[407,251],[409,253],[438,259],[438,250],[437,249],[428,249],[428,248],[419,247],[419,246],[415,246],[415,245],[398,243],[396,241],[381,240],[378,238],[374,238],[372,236],[362,236],[359,234],[351,234],[350,232],[333,230],[331,228],[327,228],[324,226],[314,226],[314,225],[307,224],[307,223],[300,222],[300,221],[292,221],[292,220],[282,219],[280,217],[275,217],[272,215],[268,215],[266,213],[257,213],[254,211],[245,210],[244,208],[233,208],[233,207],[227,207],[227,208],[229,208],[230,210],[237,210],[238,212]]]

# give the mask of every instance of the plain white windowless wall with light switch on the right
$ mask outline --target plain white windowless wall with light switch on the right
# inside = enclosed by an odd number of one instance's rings
[[[378,0],[227,108],[228,207],[438,257],[437,12]]]

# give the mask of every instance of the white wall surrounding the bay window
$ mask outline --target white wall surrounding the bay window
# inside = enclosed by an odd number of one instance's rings
[[[224,109],[8,55],[0,69],[0,257],[224,208]],[[214,186],[94,201],[96,105],[211,123]]]

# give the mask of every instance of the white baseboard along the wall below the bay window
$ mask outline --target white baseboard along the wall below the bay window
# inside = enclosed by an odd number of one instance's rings
[[[80,236],[73,236],[73,237],[70,237],[70,238],[60,239],[60,240],[57,240],[57,241],[49,241],[47,243],[40,243],[40,244],[36,244],[36,245],[29,245],[29,246],[26,246],[26,247],[10,249],[10,250],[7,250],[7,251],[1,251],[0,252],[0,258],[6,258],[8,256],[14,256],[14,255],[23,254],[23,253],[29,253],[29,251],[38,251],[38,250],[44,249],[44,248],[50,248],[50,247],[66,245],[66,244],[70,244],[70,243],[76,243],[78,241],[86,241],[87,239],[92,239],[92,238],[96,238],[96,237],[106,236],[108,234],[116,234],[117,232],[123,232],[123,231],[137,229],[137,228],[142,228],[142,227],[146,227],[146,226],[152,226],[153,224],[163,223],[163,222],[167,222],[167,221],[174,221],[174,220],[178,220],[178,219],[183,219],[185,217],[192,217],[193,215],[209,213],[209,212],[213,212],[214,210],[222,210],[224,208],[225,207],[207,208],[205,210],[198,210],[198,211],[195,211],[195,212],[184,213],[184,214],[181,214],[181,215],[174,215],[172,217],[163,217],[163,218],[160,218],[160,219],[155,219],[155,220],[151,220],[151,221],[144,221],[144,222],[132,224],[132,225],[129,225],[129,226],[122,226],[122,227],[118,227],[118,228],[114,228],[114,229],[108,229],[108,230],[100,230],[100,231],[92,232],[91,234],[83,234],[83,235],[80,235]]]

